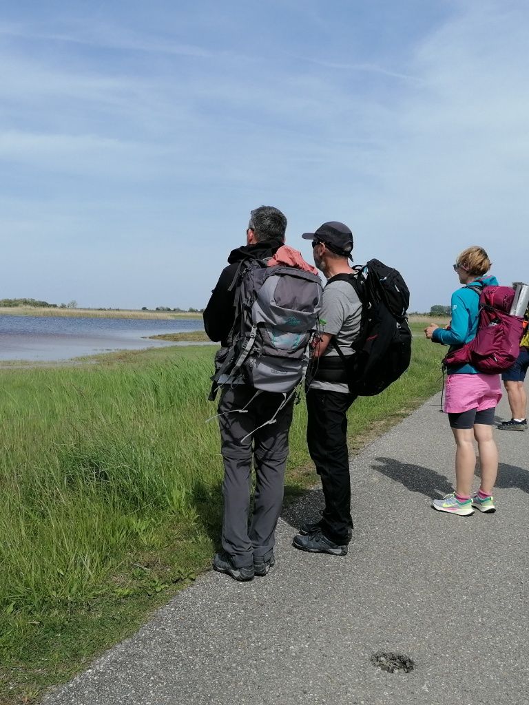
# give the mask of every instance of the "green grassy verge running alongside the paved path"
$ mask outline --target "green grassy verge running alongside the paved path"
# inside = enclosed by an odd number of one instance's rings
[[[439,348],[350,412],[351,451],[440,387]],[[0,371],[0,703],[28,703],[206,570],[221,520],[210,348]],[[287,501],[316,482],[296,407]]]

